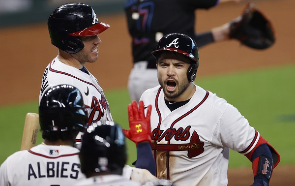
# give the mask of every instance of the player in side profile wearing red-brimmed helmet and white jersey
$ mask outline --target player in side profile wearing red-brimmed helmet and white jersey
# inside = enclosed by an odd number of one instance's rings
[[[51,43],[58,47],[58,56],[44,71],[39,101],[48,87],[73,85],[82,92],[84,103],[89,108],[89,125],[98,121],[113,121],[103,89],[85,67],[87,62],[98,59],[98,46],[101,43],[98,34],[108,28],[109,25],[99,22],[94,10],[84,3],[65,3],[51,13],[48,30]],[[81,134],[76,138],[78,148],[81,146]],[[135,167],[148,169],[155,174],[149,143],[142,141],[136,147],[137,152],[141,153],[138,153]]]

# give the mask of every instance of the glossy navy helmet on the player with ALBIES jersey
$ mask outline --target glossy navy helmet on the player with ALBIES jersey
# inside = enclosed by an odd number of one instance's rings
[[[47,132],[84,132],[88,113],[80,91],[71,85],[47,89],[40,100],[39,122],[41,129]]]

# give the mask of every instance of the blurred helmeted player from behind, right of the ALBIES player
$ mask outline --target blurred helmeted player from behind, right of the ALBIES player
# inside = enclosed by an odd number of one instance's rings
[[[79,157],[87,179],[75,186],[141,186],[122,176],[127,150],[122,129],[114,122],[90,125],[83,134]]]

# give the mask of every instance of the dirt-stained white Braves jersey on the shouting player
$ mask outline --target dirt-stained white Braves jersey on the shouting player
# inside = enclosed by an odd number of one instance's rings
[[[157,177],[178,186],[226,186],[229,148],[247,154],[259,139],[234,106],[199,86],[188,103],[172,112],[160,86],[147,90],[141,100],[153,108]]]

